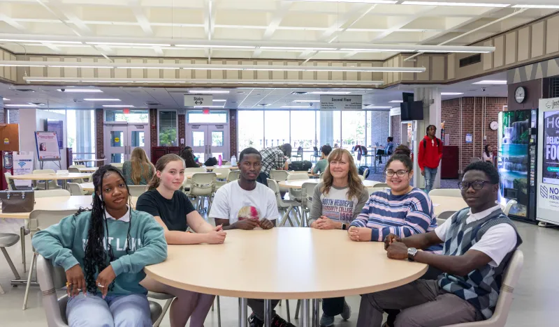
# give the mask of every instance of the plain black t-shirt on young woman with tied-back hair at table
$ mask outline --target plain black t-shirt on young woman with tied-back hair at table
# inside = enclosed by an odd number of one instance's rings
[[[150,190],[140,195],[136,210],[161,217],[170,231],[187,231],[187,215],[196,209],[181,191],[175,191],[172,199],[166,199],[157,190]]]

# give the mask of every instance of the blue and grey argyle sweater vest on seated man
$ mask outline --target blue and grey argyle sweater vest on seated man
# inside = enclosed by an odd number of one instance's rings
[[[509,224],[516,231],[512,221],[504,215],[499,208],[490,213],[486,218],[466,223],[470,208],[458,211],[451,218],[451,227],[444,242],[442,253],[444,255],[462,255],[472,246],[481,240],[486,231],[499,224]],[[516,248],[521,245],[522,239],[516,231]],[[466,276],[456,276],[443,273],[439,276],[439,286],[449,293],[452,293],[465,301],[468,301],[483,314],[485,319],[493,316],[495,305],[499,297],[502,284],[502,272],[509,263],[509,259],[514,250],[509,252],[498,267],[489,264],[470,272]]]

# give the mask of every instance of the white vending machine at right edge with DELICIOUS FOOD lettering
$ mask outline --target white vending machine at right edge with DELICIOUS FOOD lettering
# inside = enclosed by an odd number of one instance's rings
[[[559,98],[540,99],[537,220],[559,225]]]

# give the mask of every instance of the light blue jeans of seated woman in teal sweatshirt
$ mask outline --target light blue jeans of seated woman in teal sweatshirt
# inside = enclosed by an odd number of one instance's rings
[[[151,327],[150,303],[144,294],[94,296],[82,293],[68,300],[70,327]]]

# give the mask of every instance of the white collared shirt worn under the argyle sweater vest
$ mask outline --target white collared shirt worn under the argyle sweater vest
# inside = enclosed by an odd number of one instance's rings
[[[500,205],[493,206],[479,213],[472,213],[472,209],[470,208],[470,212],[466,218],[466,223],[470,224],[470,222],[486,218],[490,213],[498,208],[500,208]],[[456,215],[456,213],[454,215]],[[450,230],[451,220],[454,215],[447,219],[444,224],[435,229],[435,234],[437,234],[443,242],[447,240],[447,234]],[[488,229],[484,236],[481,237],[481,240],[472,245],[470,250],[484,252],[492,259],[489,264],[493,267],[497,267],[501,263],[502,259],[504,259],[504,257],[511,252],[515,246],[516,231],[514,231],[514,228],[509,224],[499,224]]]

